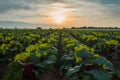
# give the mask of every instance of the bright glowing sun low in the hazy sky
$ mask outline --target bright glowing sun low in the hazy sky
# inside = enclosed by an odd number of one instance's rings
[[[62,11],[53,12],[51,17],[53,18],[54,22],[57,24],[63,23],[66,19],[65,14]]]

